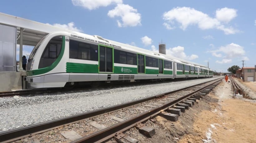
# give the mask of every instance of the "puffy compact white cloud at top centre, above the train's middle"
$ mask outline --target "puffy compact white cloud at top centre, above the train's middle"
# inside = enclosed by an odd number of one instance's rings
[[[138,26],[141,25],[141,15],[137,13],[137,9],[128,4],[117,4],[117,6],[108,12],[111,18],[121,17],[117,20],[118,27]]]

